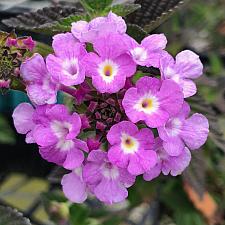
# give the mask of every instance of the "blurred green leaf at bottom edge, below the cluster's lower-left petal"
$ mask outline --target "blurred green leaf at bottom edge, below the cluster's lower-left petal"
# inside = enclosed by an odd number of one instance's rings
[[[89,225],[89,209],[84,205],[74,204],[70,207],[71,225]]]

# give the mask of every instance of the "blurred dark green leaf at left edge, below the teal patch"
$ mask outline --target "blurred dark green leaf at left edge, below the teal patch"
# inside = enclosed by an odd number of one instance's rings
[[[16,143],[15,133],[8,124],[5,117],[0,115],[0,143],[14,145]]]

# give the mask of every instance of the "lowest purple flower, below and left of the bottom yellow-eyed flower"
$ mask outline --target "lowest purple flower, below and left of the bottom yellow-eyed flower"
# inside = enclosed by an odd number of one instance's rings
[[[135,176],[110,163],[107,153],[101,150],[91,151],[87,160],[83,177],[90,191],[100,201],[112,204],[127,198],[126,188],[134,184]]]

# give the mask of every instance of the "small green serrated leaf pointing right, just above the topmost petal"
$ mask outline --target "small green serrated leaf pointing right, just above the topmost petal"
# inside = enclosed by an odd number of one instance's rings
[[[108,13],[112,11],[118,16],[125,17],[140,8],[141,8],[141,5],[139,4],[118,4],[118,5],[113,5],[111,7],[106,8],[105,12]]]

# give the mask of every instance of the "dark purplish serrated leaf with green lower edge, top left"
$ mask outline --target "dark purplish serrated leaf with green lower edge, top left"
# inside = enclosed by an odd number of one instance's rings
[[[71,22],[83,18],[82,13],[83,9],[79,4],[72,7],[45,7],[36,12],[24,13],[17,17],[3,20],[2,23],[19,30],[52,34],[67,31]]]

